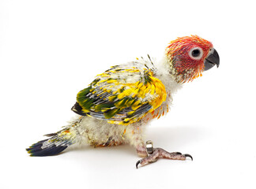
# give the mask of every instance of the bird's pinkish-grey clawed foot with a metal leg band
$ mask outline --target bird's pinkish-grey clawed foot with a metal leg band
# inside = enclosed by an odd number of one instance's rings
[[[168,152],[162,148],[153,148],[152,141],[147,141],[146,143],[146,150],[148,153],[148,157],[142,158],[141,160],[137,161],[136,168],[139,164],[147,165],[149,163],[155,162],[158,158],[168,158],[172,160],[186,160],[186,157],[193,158],[190,154],[182,154],[180,152]]]

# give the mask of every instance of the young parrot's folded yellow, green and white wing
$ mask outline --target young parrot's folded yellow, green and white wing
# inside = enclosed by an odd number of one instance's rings
[[[113,66],[77,94],[72,109],[111,124],[134,123],[166,99],[164,84],[153,75],[152,69],[141,63]]]

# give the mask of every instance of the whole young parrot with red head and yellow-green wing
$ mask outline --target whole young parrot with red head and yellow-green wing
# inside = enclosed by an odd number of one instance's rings
[[[77,117],[61,131],[46,135],[49,139],[26,150],[31,156],[50,156],[75,144],[129,143],[143,157],[136,167],[158,158],[192,159],[190,154],[146,147],[143,133],[150,120],[168,113],[172,95],[183,83],[201,76],[201,72],[214,65],[220,65],[220,58],[213,44],[191,35],[171,41],[161,61],[153,62],[148,56],[112,66],[78,92],[72,107]]]

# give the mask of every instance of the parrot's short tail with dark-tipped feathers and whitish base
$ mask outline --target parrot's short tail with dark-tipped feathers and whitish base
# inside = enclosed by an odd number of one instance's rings
[[[30,156],[51,156],[61,153],[68,146],[77,143],[77,124],[80,123],[82,117],[79,117],[69,125],[65,126],[61,131],[47,134],[45,136],[50,139],[44,139],[32,144],[26,150]]]

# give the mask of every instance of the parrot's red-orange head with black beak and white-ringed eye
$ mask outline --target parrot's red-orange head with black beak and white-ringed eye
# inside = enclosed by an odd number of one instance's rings
[[[197,35],[171,41],[165,54],[169,72],[178,83],[192,81],[201,76],[201,72],[220,65],[220,57],[213,44]]]

